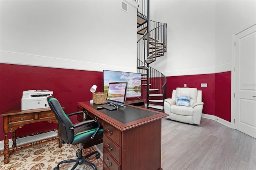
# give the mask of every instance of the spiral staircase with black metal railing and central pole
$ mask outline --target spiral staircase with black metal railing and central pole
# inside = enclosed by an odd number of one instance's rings
[[[164,111],[166,99],[166,77],[150,67],[166,52],[166,23],[155,22],[149,19],[149,0],[136,0],[137,34],[141,38],[137,42],[137,72],[142,74],[142,85],[146,86],[147,109]]]

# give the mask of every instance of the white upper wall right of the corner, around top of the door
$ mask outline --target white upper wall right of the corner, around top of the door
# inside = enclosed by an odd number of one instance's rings
[[[216,66],[232,61],[232,34],[252,22],[256,22],[255,0],[216,1]]]

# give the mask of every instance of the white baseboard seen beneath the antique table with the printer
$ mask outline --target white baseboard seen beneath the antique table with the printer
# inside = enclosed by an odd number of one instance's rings
[[[55,137],[57,135],[58,135],[57,132],[50,131],[50,132],[47,132],[47,133],[37,134],[37,135],[34,135],[34,136],[27,136],[27,137],[24,137],[24,138],[18,138],[16,142],[17,142],[17,146],[21,146],[21,145],[24,145],[24,144],[27,144],[27,143],[36,142],[38,140],[52,138],[52,137]],[[9,148],[11,148],[11,147],[12,147],[12,138],[9,139]],[[4,140],[0,141],[0,150],[4,150]]]

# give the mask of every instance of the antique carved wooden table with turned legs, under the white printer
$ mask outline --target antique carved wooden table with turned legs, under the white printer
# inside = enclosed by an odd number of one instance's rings
[[[14,152],[15,150],[20,150],[21,148],[27,148],[29,146],[34,146],[36,144],[44,143],[48,140],[53,140],[56,138],[59,138],[59,147],[62,146],[62,142],[60,140],[59,126],[57,129],[52,129],[52,130],[58,130],[58,137],[49,138],[46,140],[40,140],[37,142],[25,144],[23,146],[16,146],[16,139],[17,139],[16,129],[18,127],[22,128],[23,125],[26,125],[29,123],[42,122],[42,121],[58,123],[57,119],[55,118],[54,113],[51,111],[50,108],[31,109],[31,110],[25,110],[25,111],[22,111],[20,109],[10,109],[10,110],[6,111],[4,114],[1,114],[1,116],[4,117],[4,120],[3,120],[3,125],[4,125],[4,164],[8,164],[9,155],[12,154],[12,152]],[[33,134],[28,134],[25,136],[33,136],[36,134],[46,133],[46,132],[49,132],[52,130],[37,132],[37,133],[33,133]],[[12,132],[12,148],[9,148],[8,132]],[[18,138],[22,138],[25,136],[20,136]]]

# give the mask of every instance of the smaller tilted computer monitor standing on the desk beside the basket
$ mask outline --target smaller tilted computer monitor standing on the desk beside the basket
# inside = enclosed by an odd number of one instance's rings
[[[124,106],[126,101],[127,81],[112,82],[108,85],[107,102],[111,104]]]

